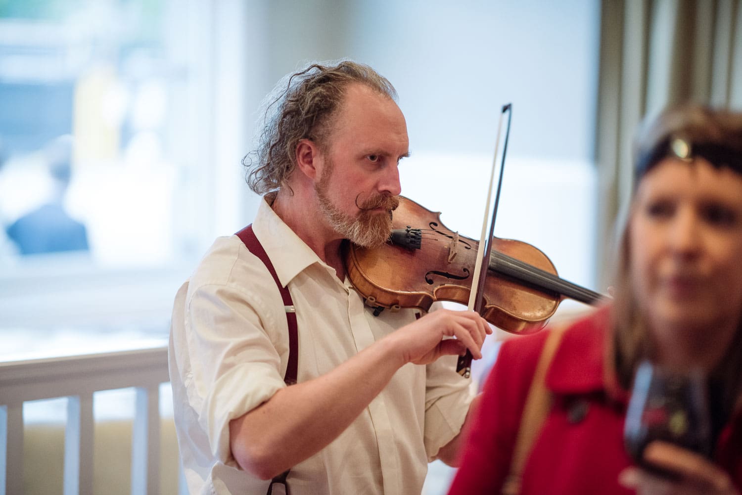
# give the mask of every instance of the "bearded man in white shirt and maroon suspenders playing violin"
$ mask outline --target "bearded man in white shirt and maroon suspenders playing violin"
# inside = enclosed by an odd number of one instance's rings
[[[379,314],[347,280],[342,244],[386,242],[401,192],[409,143],[390,82],[345,61],[275,91],[245,160],[265,194],[255,221],[217,239],[175,300],[188,489],[419,494],[427,462],[456,459],[473,400],[456,356],[481,357],[490,327],[474,312]]]

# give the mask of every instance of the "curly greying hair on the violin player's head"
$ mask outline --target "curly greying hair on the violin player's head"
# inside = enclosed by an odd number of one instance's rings
[[[361,83],[396,101],[393,85],[368,65],[327,63],[312,63],[284,76],[263,100],[257,149],[242,160],[247,183],[257,194],[280,189],[292,174],[300,140],[312,140],[324,149],[347,85]]]

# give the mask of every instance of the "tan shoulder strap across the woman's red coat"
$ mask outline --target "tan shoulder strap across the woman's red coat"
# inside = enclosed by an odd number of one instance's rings
[[[546,415],[551,409],[551,393],[546,388],[546,372],[551,364],[551,359],[559,348],[559,341],[564,333],[563,328],[549,330],[544,348],[536,364],[536,374],[533,375],[531,388],[525,399],[523,415],[520,418],[518,436],[516,436],[515,448],[513,448],[513,459],[510,462],[510,473],[502,485],[502,495],[519,495],[520,480],[525,465],[525,459],[531,452],[533,441],[541,431]]]

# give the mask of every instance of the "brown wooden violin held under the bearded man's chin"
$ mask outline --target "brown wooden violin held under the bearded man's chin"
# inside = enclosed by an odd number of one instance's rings
[[[399,198],[386,244],[344,247],[349,280],[377,311],[427,311],[433,301],[467,304],[479,242],[444,226],[440,212]],[[603,300],[603,295],[559,278],[551,260],[531,244],[493,237],[492,246],[480,312],[502,330],[541,330],[564,298],[586,304]]]

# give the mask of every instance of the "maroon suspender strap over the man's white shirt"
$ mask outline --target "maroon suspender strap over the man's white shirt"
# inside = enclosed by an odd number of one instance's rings
[[[283,376],[283,381],[285,381],[287,385],[295,384],[298,370],[299,335],[298,326],[296,324],[296,312],[294,311],[294,301],[291,299],[288,287],[284,287],[280,284],[273,263],[271,263],[270,258],[268,258],[266,250],[263,249],[263,244],[260,243],[260,240],[257,240],[255,232],[252,232],[252,223],[240,230],[240,232],[237,232],[237,237],[240,237],[240,240],[245,244],[247,250],[257,256],[257,258],[260,258],[260,261],[262,261],[268,271],[271,272],[273,280],[280,292],[280,297],[283,299],[283,306],[286,308],[286,323],[289,324],[289,362],[286,364],[286,376]],[[271,480],[266,495],[290,495],[289,484],[286,482],[286,478],[289,476],[289,471],[291,470],[287,469]],[[273,488],[276,489],[275,494],[273,493]]]

